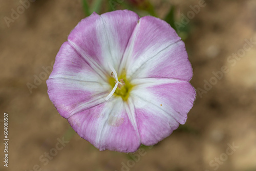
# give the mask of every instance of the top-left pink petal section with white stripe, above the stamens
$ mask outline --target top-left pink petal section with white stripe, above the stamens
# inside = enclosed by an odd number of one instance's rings
[[[108,63],[118,69],[138,20],[139,16],[128,10],[93,13],[81,20],[68,40],[92,68],[110,74]]]

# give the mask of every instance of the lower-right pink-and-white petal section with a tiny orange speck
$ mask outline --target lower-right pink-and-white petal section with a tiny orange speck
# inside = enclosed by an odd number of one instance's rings
[[[141,143],[153,145],[166,138],[180,124],[196,97],[189,82],[167,78],[134,79],[131,91],[136,108]]]

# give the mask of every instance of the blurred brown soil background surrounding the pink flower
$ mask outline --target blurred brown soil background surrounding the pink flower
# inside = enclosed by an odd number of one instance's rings
[[[1,170],[256,170],[256,1],[0,0]],[[49,100],[61,44],[93,11],[165,19],[186,44],[197,89],[187,122],[135,154],[99,152]],[[4,112],[9,163],[4,166]],[[62,140],[65,142],[62,142]],[[69,141],[69,142],[68,142]],[[61,143],[60,143],[61,142]]]

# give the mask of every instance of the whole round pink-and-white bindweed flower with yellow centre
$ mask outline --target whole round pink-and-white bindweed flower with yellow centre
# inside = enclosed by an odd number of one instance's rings
[[[100,151],[135,152],[184,124],[195,100],[184,42],[166,22],[128,10],[93,13],[61,46],[48,94]]]

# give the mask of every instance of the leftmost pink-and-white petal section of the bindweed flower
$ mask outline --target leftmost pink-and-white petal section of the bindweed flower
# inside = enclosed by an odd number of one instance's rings
[[[104,102],[111,87],[65,42],[47,80],[48,94],[62,117]]]

